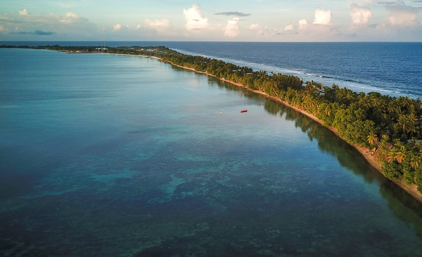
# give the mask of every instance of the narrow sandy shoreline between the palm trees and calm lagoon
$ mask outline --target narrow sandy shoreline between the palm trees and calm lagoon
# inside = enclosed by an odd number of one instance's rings
[[[142,56],[142,55],[134,55],[134,56]],[[143,56],[143,57],[152,57],[152,56]],[[276,96],[269,96],[269,95],[267,95],[264,92],[261,92],[259,90],[249,89],[248,87],[245,87],[244,85],[242,85],[240,83],[236,83],[236,82],[233,82],[231,80],[225,80],[225,79],[218,78],[217,76],[214,76],[214,75],[212,75],[212,74],[210,74],[208,72],[197,71],[194,68],[189,68],[189,67],[181,66],[181,65],[178,65],[178,64],[173,64],[170,61],[165,61],[165,60],[162,60],[161,58],[158,58],[158,57],[155,57],[155,56],[154,56],[154,58],[156,58],[156,59],[158,59],[158,60],[160,60],[160,61],[162,61],[164,63],[169,63],[169,64],[175,65],[175,66],[180,67],[180,68],[183,68],[183,69],[191,70],[191,71],[193,71],[195,73],[201,73],[201,74],[205,74],[207,76],[211,76],[211,77],[217,78],[217,79],[219,79],[221,81],[230,83],[230,84],[235,85],[235,86],[238,86],[238,87],[242,87],[245,90],[248,90],[248,91],[253,92],[253,93],[256,93],[256,94],[260,94],[260,95],[265,96],[265,97],[267,97],[267,98],[269,98],[269,99],[271,99],[273,101],[279,102],[279,103],[283,104],[284,106],[293,109],[296,112],[300,112],[302,114],[307,115],[309,118],[311,118],[312,120],[318,122],[321,126],[324,126],[325,128],[328,128],[329,130],[331,130],[332,132],[334,132],[334,134],[336,134],[336,136],[338,136],[339,138],[341,138],[342,140],[344,140],[339,135],[339,132],[337,131],[336,128],[325,126],[324,125],[324,122],[322,120],[320,120],[318,117],[316,117],[315,115],[313,115],[311,113],[308,113],[308,112],[306,112],[306,111],[304,111],[302,109],[299,109],[297,107],[294,107],[294,106],[290,105],[288,102],[283,101],[283,100],[277,98]],[[345,141],[345,142],[347,143],[347,141]],[[366,148],[366,147],[360,147],[358,145],[352,145],[352,146],[355,147],[360,152],[360,154],[366,159],[366,161],[368,161],[369,164],[371,164],[371,166],[373,166],[374,169],[376,169],[379,173],[381,173],[381,163],[376,160],[376,156],[377,156],[376,154],[374,154],[374,155],[371,154],[370,150],[368,148]],[[422,193],[419,193],[416,185],[408,186],[405,183],[403,183],[402,181],[391,180],[391,179],[390,179],[390,181],[392,181],[393,183],[395,183],[396,185],[398,185],[400,188],[402,188],[403,190],[405,190],[408,194],[410,194],[416,200],[418,200],[420,203],[422,203]]]

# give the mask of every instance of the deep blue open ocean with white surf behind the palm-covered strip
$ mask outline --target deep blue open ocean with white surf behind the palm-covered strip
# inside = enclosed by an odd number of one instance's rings
[[[336,84],[356,92],[422,98],[422,42],[1,42],[11,45],[166,46],[255,71]]]

